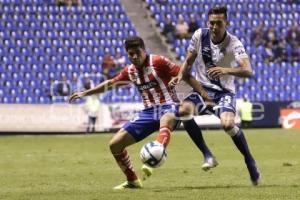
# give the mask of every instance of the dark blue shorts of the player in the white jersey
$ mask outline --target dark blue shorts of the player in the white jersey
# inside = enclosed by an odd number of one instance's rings
[[[208,94],[216,104],[213,109],[206,107],[203,98],[197,92],[189,94],[184,101],[191,101],[196,106],[198,115],[215,114],[220,117],[223,112],[236,112],[235,94],[220,91],[209,91]]]

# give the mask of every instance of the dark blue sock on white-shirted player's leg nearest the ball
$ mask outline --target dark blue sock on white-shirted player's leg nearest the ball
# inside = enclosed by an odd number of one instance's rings
[[[198,149],[202,152],[204,158],[212,157],[212,153],[209,148],[206,146],[205,141],[202,137],[201,129],[194,119],[183,121],[185,130],[188,132],[190,138],[196,144]]]

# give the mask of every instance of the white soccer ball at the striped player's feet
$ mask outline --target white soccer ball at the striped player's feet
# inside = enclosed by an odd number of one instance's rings
[[[142,147],[140,157],[142,162],[149,167],[159,167],[166,161],[167,152],[161,143],[154,141]]]

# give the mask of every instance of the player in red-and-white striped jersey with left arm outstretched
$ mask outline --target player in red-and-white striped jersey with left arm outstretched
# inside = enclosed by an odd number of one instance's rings
[[[170,140],[171,131],[176,127],[179,100],[174,87],[169,86],[180,67],[163,56],[147,54],[145,45],[140,37],[130,37],[125,41],[125,49],[131,65],[126,66],[114,78],[106,80],[96,87],[74,93],[69,101],[105,92],[115,86],[133,83],[144,103],[145,109],[138,116],[127,122],[111,139],[109,147],[127,181],[114,189],[141,188],[142,183],[137,177],[131,164],[126,147],[143,140],[159,130],[156,138],[165,147]],[[196,79],[188,79],[196,81]],[[193,84],[193,83],[190,83]],[[201,88],[199,89],[199,92]],[[205,96],[205,95],[204,95]],[[208,96],[206,95],[208,98]]]

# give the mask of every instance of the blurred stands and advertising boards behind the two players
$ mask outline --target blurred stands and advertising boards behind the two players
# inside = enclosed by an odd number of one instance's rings
[[[216,5],[227,6],[228,30],[244,44],[254,70],[252,78],[236,80],[239,113],[252,116],[242,125],[300,128],[297,0],[0,0],[0,131],[121,127],[143,108],[133,86],[76,104],[68,96],[129,64],[123,48],[128,36],[139,35],[149,53],[182,63],[191,35],[206,27],[207,12]],[[245,121],[242,115],[238,123]],[[197,122],[219,124],[213,116]]]

